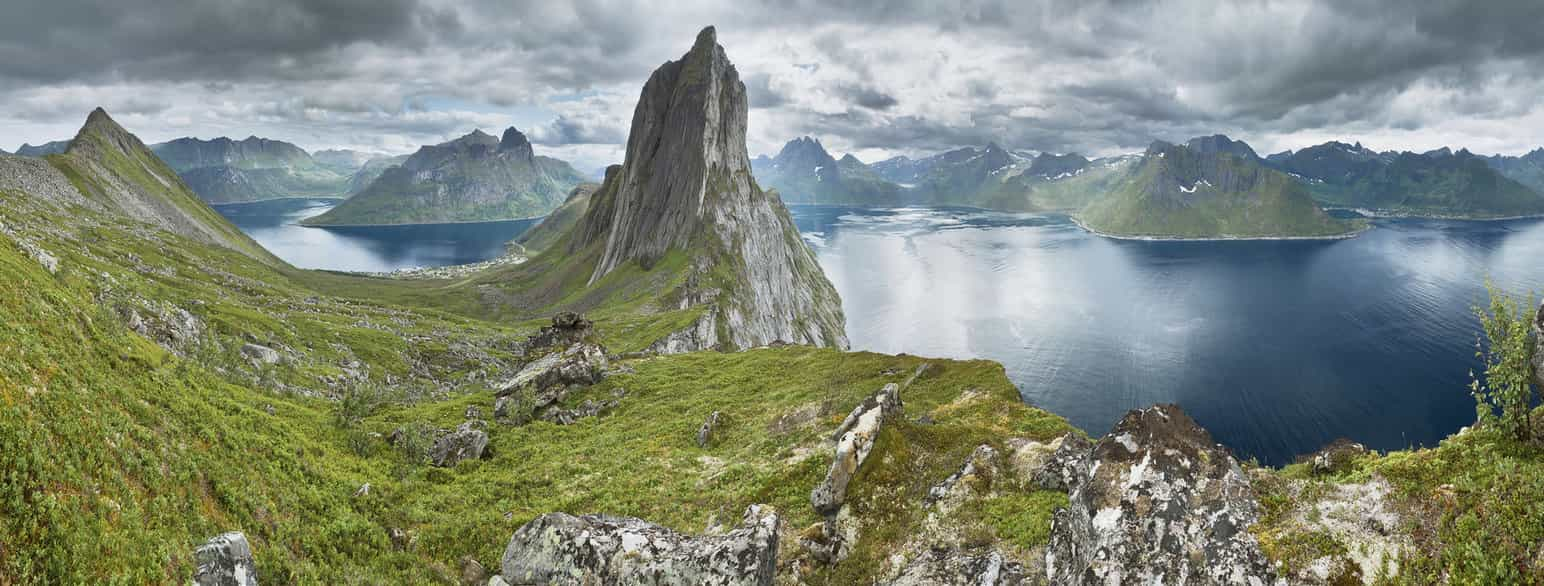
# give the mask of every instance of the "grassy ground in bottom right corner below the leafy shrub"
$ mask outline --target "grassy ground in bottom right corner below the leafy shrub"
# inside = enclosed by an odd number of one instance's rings
[[[1544,410],[1535,418],[1544,418]],[[1544,447],[1522,444],[1493,430],[1473,430],[1437,447],[1371,453],[1349,470],[1314,477],[1306,463],[1255,481],[1265,515],[1252,530],[1266,554],[1285,567],[1305,567],[1320,557],[1346,558],[1356,543],[1305,532],[1289,523],[1337,483],[1383,478],[1403,526],[1390,527],[1411,547],[1397,557],[1394,575],[1359,578],[1394,584],[1544,584]],[[1300,492],[1288,490],[1303,483]],[[1360,581],[1360,580],[1359,580]]]

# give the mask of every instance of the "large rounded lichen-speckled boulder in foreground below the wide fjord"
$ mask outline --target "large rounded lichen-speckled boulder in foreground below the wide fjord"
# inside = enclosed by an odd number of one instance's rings
[[[1248,477],[1180,407],[1127,413],[1087,463],[1051,521],[1051,583],[1277,583]]]

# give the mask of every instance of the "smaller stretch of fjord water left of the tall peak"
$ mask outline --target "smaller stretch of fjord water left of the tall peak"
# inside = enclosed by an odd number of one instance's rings
[[[335,199],[275,199],[216,205],[273,254],[301,268],[391,271],[480,262],[537,221],[307,228],[301,219],[332,210]]]

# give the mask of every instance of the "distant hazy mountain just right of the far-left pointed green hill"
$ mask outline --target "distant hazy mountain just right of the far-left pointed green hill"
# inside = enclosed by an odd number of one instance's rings
[[[346,194],[347,176],[283,140],[176,139],[150,150],[212,204]]]

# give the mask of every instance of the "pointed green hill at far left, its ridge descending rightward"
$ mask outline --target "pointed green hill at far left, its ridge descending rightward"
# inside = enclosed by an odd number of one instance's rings
[[[91,111],[86,123],[62,154],[48,157],[57,173],[34,167],[22,177],[56,188],[32,187],[32,193],[52,193],[56,200],[110,210],[130,219],[199,241],[232,248],[253,259],[281,265],[261,245],[212,210],[156,154],[119,126],[102,108]],[[12,157],[14,159],[14,157]],[[22,165],[26,159],[14,159]],[[8,165],[9,167],[9,165]],[[68,182],[49,179],[62,174]]]

